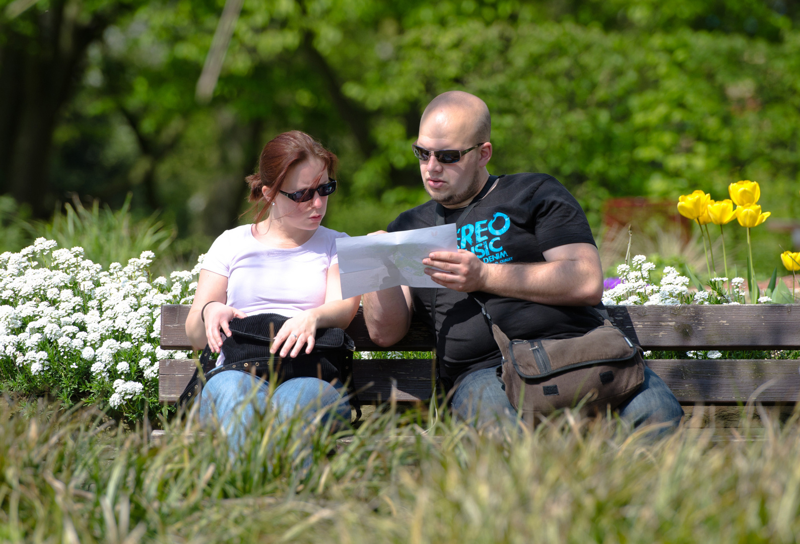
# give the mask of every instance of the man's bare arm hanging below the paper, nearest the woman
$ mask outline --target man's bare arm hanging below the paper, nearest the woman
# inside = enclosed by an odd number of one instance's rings
[[[362,302],[366,329],[378,346],[391,346],[406,336],[411,312],[401,287],[367,293]]]

